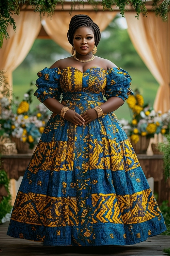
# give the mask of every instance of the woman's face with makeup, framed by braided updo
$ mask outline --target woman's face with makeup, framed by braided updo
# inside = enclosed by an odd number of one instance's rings
[[[90,53],[95,45],[95,36],[90,28],[78,28],[73,38],[74,49],[77,53],[86,55]]]

